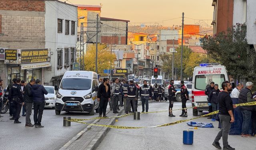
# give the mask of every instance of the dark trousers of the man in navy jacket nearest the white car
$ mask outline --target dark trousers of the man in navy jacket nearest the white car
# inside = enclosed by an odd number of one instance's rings
[[[41,125],[42,115],[44,111],[44,102],[34,102],[34,122]]]

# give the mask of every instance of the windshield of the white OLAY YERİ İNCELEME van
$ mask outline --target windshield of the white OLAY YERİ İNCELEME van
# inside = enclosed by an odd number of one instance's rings
[[[91,80],[81,78],[66,78],[62,80],[60,88],[63,90],[89,90],[91,88]]]

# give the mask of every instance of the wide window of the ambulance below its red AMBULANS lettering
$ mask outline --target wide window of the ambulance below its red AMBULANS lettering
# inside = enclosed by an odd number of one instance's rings
[[[197,90],[205,90],[206,87],[210,85],[210,82],[214,82],[215,84],[219,85],[219,89],[221,88],[222,82],[225,81],[224,74],[202,74],[197,75],[195,77],[195,89]]]

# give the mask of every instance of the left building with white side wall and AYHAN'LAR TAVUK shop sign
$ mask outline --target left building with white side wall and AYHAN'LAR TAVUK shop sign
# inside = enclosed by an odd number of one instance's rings
[[[25,0],[0,0],[0,4],[4,34],[0,48],[6,56],[0,60],[0,76],[5,85],[12,78],[58,84],[76,61],[76,6],[58,0],[31,0],[30,5]]]

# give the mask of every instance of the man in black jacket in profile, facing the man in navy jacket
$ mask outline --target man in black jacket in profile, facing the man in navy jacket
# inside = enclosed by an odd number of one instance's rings
[[[24,87],[23,100],[26,104],[26,124],[25,127],[34,126],[31,124],[30,115],[32,112],[33,97],[32,97],[32,86],[36,84],[36,80],[32,78],[30,82]]]

